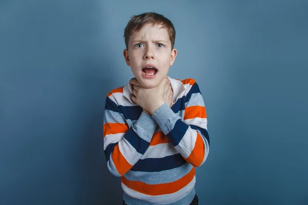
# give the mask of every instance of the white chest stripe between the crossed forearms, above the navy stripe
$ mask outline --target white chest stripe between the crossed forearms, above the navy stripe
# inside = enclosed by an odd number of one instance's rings
[[[145,153],[142,155],[141,159],[146,158],[163,158],[166,156],[178,154],[174,146],[170,142],[158,144],[155,146],[149,146]]]

